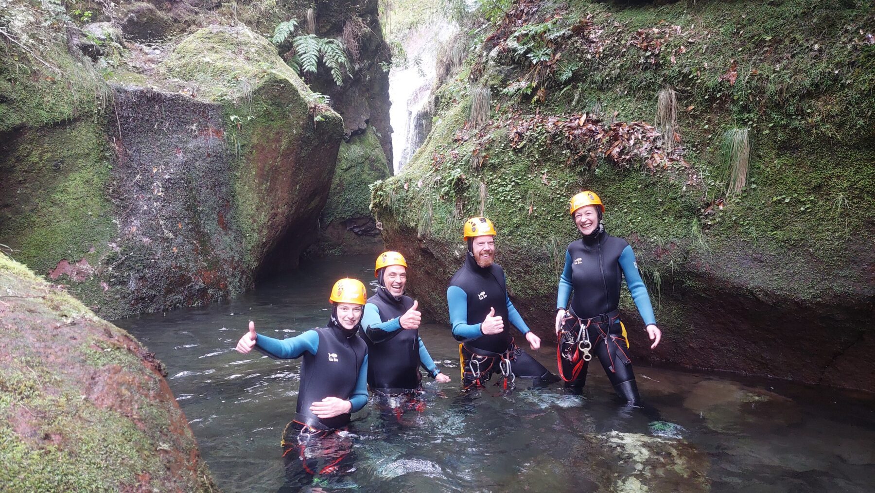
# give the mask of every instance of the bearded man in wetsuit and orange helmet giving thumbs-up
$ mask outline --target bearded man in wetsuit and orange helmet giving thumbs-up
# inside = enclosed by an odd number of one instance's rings
[[[541,347],[541,339],[529,331],[507,296],[504,270],[494,263],[494,237],[495,228],[486,217],[472,217],[465,222],[465,264],[446,290],[452,335],[461,342],[458,353],[462,386],[483,386],[493,373],[500,373],[506,387],[513,384],[514,377],[556,382],[556,376],[514,344],[510,326],[505,325],[513,324],[532,349]]]

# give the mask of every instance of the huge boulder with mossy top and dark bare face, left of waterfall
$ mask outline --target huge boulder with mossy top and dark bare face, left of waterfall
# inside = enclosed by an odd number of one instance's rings
[[[98,116],[2,144],[0,243],[112,318],[242,292],[297,265],[331,185],[340,117],[266,39],[212,26]]]

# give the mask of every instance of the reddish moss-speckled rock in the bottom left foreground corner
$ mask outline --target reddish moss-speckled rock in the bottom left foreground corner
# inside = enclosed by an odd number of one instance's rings
[[[0,254],[0,484],[211,491],[161,362]]]

